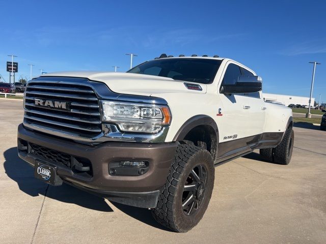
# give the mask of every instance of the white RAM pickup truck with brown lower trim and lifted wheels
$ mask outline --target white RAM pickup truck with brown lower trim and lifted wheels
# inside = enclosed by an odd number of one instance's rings
[[[43,74],[26,86],[18,154],[48,184],[151,208],[186,232],[208,206],[214,165],[254,149],[290,162],[291,109],[265,103],[261,87],[246,66],[206,55],[162,54],[126,73]]]

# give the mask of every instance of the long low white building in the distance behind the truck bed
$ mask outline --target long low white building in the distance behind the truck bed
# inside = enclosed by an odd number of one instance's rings
[[[300,104],[300,105],[309,105],[309,97],[263,93],[263,98],[266,102],[280,102],[285,106],[289,106],[289,104],[291,103]],[[314,102],[315,102],[315,98],[311,98],[312,106],[314,106]]]

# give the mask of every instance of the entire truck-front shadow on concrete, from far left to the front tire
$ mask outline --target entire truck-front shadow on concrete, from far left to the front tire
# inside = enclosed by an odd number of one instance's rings
[[[32,197],[45,195],[61,202],[73,203],[96,211],[112,212],[113,209],[107,205],[103,198],[84,192],[67,184],[53,187],[34,178],[34,169],[28,163],[18,157],[17,147],[7,149],[4,153],[4,168],[6,174],[17,182],[19,189]],[[28,181],[28,182],[27,182]],[[48,187],[48,188],[47,188]],[[170,231],[158,224],[151,216],[147,208],[139,208],[111,202],[126,215],[137,219],[147,225]]]

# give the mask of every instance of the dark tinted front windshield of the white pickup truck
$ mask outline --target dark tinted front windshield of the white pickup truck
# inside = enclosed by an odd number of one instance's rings
[[[208,58],[160,58],[140,64],[127,72],[209,84],[213,82],[221,62],[222,60]]]

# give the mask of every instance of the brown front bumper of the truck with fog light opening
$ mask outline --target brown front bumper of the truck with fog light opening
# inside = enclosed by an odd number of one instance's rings
[[[75,172],[73,169],[44,159],[23,145],[33,143],[50,148],[71,157],[90,162],[92,174]],[[159,189],[165,184],[171,167],[177,142],[132,143],[105,142],[96,146],[79,144],[18,126],[18,155],[30,165],[39,159],[55,164],[63,181],[77,188],[103,196],[109,200],[138,207],[155,207]],[[149,168],[138,176],[110,175],[108,165],[117,160],[146,160]]]

